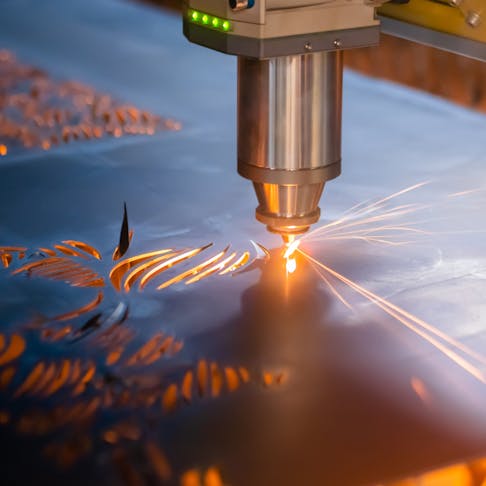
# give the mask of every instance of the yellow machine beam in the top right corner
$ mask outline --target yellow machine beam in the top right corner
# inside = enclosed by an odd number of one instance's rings
[[[476,12],[482,19],[476,27],[466,21],[469,12]],[[486,43],[486,0],[462,0],[459,6],[434,0],[410,0],[407,4],[385,3],[378,9],[378,13],[409,24]]]

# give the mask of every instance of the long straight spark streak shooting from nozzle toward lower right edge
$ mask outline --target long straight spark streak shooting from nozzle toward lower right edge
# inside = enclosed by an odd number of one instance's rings
[[[465,370],[470,375],[475,377],[477,380],[481,381],[482,383],[486,383],[485,372],[482,371],[481,369],[477,368],[474,364],[470,363],[467,359],[463,358],[458,353],[458,351],[461,351],[462,353],[469,356],[470,358],[473,358],[473,359],[477,360],[478,362],[480,362],[481,364],[485,365],[486,359],[483,356],[475,353],[473,350],[469,349],[467,346],[456,341],[455,339],[451,338],[447,334],[443,333],[442,331],[433,327],[432,325],[428,324],[427,322],[423,321],[422,319],[419,319],[418,317],[414,316],[413,314],[405,311],[404,309],[401,309],[400,307],[396,306],[395,304],[392,304],[391,302],[380,297],[379,295],[365,289],[361,285],[359,285],[359,284],[353,282],[352,280],[346,278],[345,276],[336,272],[332,268],[324,265],[322,262],[319,262],[318,260],[313,258],[311,255],[309,255],[308,253],[306,253],[302,249],[299,249],[298,251],[301,255],[304,256],[304,258],[306,258],[310,262],[314,263],[317,267],[323,269],[325,272],[334,276],[335,278],[337,278],[341,282],[348,285],[351,289],[356,291],[358,294],[362,295],[363,297],[368,299],[370,302],[374,303],[375,305],[377,305],[378,307],[383,309],[388,315],[392,316],[397,321],[399,321],[404,326],[406,326],[408,329],[413,331],[415,334],[422,337],[429,344],[434,346],[436,349],[438,349],[440,352],[442,352],[445,356],[447,356],[449,359],[451,359],[454,363],[456,363],[463,370]],[[435,337],[431,336],[427,333],[433,334]],[[446,344],[439,341],[439,339],[442,339],[445,343],[447,343],[449,346],[451,346],[451,348],[455,348],[456,350],[451,349]]]

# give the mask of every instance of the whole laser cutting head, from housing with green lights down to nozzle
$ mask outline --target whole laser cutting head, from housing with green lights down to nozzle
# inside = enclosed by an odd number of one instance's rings
[[[238,56],[238,172],[284,241],[320,217],[341,172],[342,49],[375,45],[363,0],[189,0],[189,40]]]

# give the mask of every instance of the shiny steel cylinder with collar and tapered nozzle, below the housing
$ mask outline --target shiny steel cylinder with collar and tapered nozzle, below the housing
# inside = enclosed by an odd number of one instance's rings
[[[342,52],[238,60],[238,172],[253,181],[257,219],[298,234],[319,219],[341,171]]]

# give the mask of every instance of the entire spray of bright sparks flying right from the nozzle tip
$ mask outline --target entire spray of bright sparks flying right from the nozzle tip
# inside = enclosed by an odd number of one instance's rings
[[[283,253],[283,258],[287,260],[288,264],[293,259],[294,253],[299,252],[311,264],[312,268],[318,273],[319,278],[323,280],[330,291],[346,307],[352,310],[351,304],[339,292],[337,286],[333,285],[331,279],[340,281],[348,288],[375,304],[396,321],[426,340],[467,373],[480,382],[486,383],[486,358],[481,354],[476,353],[461,342],[453,339],[410,312],[341,275],[300,248],[303,242],[311,243],[323,240],[359,240],[367,243],[380,243],[387,246],[402,246],[407,243],[412,243],[410,240],[400,239],[404,234],[417,236],[432,234],[429,231],[416,227],[418,224],[424,224],[427,221],[410,222],[409,216],[424,209],[432,208],[434,204],[423,205],[411,203],[390,207],[390,202],[395,198],[415,191],[426,184],[428,182],[421,182],[379,199],[378,201],[366,201],[356,204],[345,211],[339,219],[316,228],[303,237],[289,243]],[[480,189],[474,189],[449,194],[445,202],[447,200],[450,201],[451,198],[455,199],[459,196],[465,196],[479,191]],[[400,218],[404,218],[405,216],[407,217],[407,222],[401,222]],[[481,231],[473,232],[479,233]],[[461,233],[469,233],[469,231]]]

